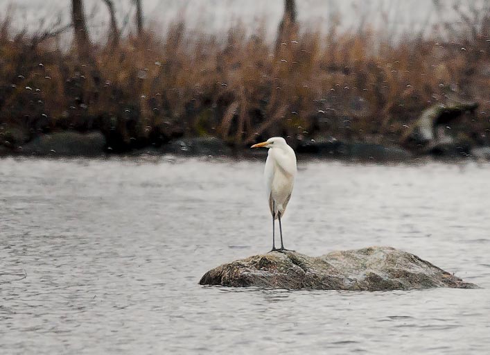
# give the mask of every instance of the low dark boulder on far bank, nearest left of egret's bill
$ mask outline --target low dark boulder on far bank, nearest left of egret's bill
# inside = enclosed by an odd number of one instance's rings
[[[229,155],[231,149],[216,137],[175,139],[163,146],[164,153],[183,155]]]

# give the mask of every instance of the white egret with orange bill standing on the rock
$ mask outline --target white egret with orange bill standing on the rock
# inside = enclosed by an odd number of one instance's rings
[[[282,137],[272,137],[267,141],[254,144],[251,148],[269,148],[264,168],[264,182],[267,197],[269,198],[270,213],[272,214],[272,250],[287,250],[283,244],[281,217],[284,216],[286,206],[291,198],[292,187],[296,178],[295,151]],[[276,249],[274,234],[274,221],[279,220],[279,233],[281,234],[281,248]]]

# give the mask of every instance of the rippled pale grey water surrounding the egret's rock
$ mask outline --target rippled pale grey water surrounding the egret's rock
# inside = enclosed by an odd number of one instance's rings
[[[270,249],[262,168],[0,159],[1,352],[487,354],[488,165],[301,162],[283,221],[288,248],[392,245],[482,289],[199,286]]]

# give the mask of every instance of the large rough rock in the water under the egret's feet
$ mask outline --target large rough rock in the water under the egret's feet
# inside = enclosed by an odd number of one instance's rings
[[[478,288],[414,254],[389,247],[331,252],[322,257],[270,252],[218,266],[199,283],[348,291]]]

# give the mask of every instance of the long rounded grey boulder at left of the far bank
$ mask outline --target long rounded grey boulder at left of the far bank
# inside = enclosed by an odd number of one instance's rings
[[[101,132],[79,133],[73,131],[58,132],[39,136],[21,149],[24,154],[59,156],[96,156],[103,155],[105,137]]]

